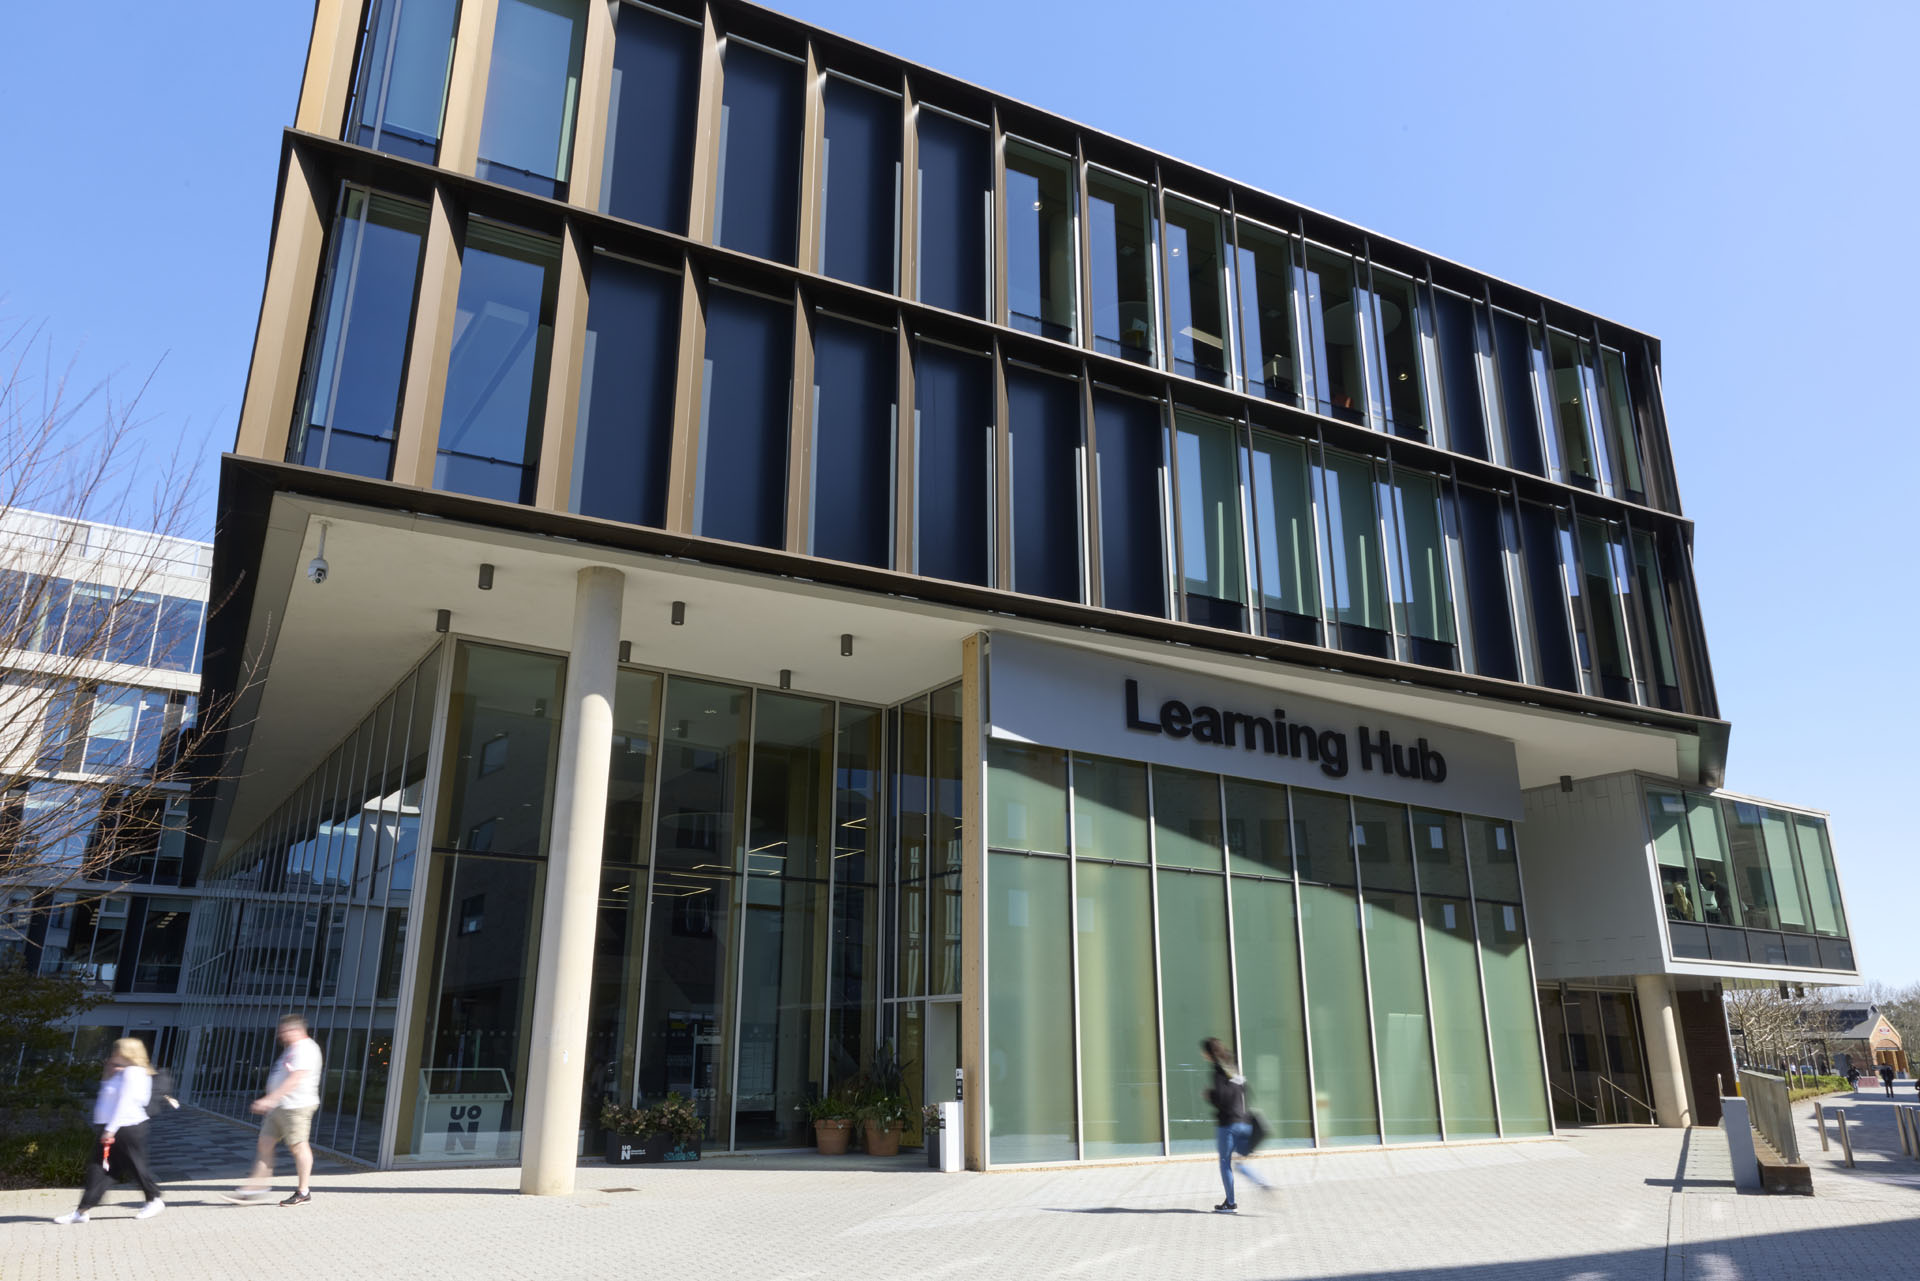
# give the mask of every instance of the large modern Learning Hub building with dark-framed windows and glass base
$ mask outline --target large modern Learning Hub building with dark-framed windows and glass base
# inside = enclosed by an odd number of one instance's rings
[[[1582,874],[1647,947],[1542,964],[1549,799],[1724,782],[1659,361],[751,4],[321,0],[196,1097],[298,1006],[323,1145],[528,1191],[605,1099],[797,1147],[889,1052],[975,1168],[1206,1148],[1208,1035],[1298,1147],[1549,1135],[1628,1045],[1705,1116],[1695,1006],[1853,962],[1797,820],[1797,922],[1668,931],[1707,864],[1636,791]]]

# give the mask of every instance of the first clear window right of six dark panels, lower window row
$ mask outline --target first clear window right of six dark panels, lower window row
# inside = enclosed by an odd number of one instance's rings
[[[1179,415],[1181,584],[1187,620],[1246,630],[1246,542],[1240,536],[1240,449],[1229,423]]]

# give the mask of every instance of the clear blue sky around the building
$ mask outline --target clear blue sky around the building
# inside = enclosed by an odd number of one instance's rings
[[[781,8],[1657,334],[1728,782],[1834,810],[1862,966],[1920,979],[1920,10]],[[0,330],[40,326],[117,396],[157,365],[152,442],[202,453],[207,490],[309,21],[298,0],[0,17]]]

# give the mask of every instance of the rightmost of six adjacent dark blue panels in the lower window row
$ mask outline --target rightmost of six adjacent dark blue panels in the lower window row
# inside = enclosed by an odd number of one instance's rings
[[[1160,469],[1165,430],[1160,403],[1096,390],[1092,423],[1100,457],[1100,603],[1164,618],[1167,565]]]

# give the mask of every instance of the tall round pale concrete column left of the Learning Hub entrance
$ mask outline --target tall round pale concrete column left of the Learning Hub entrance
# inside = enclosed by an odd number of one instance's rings
[[[547,901],[540,918],[534,1027],[526,1056],[520,1191],[534,1196],[574,1191],[624,590],[620,570],[591,567],[580,570],[574,595],[574,645],[566,659]]]

